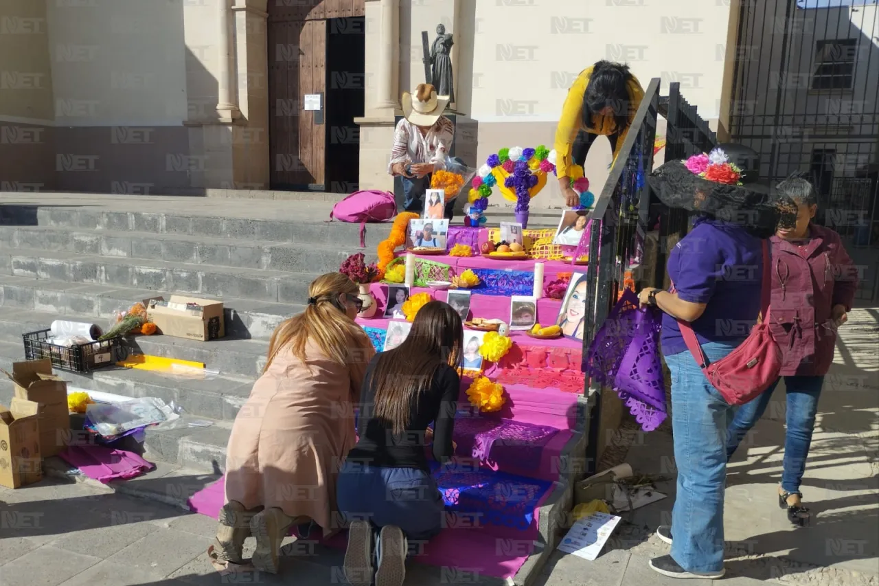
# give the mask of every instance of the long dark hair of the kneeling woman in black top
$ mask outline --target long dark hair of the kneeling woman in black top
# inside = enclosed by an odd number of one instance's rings
[[[461,366],[463,346],[464,326],[452,306],[442,301],[425,304],[406,340],[378,357],[372,375],[374,417],[402,434],[418,395],[430,388],[436,371],[443,364]]]

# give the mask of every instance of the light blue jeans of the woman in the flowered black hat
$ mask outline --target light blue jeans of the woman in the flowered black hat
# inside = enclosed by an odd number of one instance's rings
[[[702,344],[708,361],[734,346]],[[691,572],[723,568],[726,435],[734,407],[708,382],[689,351],[665,356],[672,372],[672,432],[678,494],[672,509],[672,558]]]

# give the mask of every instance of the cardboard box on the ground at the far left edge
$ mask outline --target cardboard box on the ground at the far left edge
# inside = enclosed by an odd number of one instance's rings
[[[12,399],[0,405],[0,486],[23,487],[43,478],[40,456],[40,405]]]

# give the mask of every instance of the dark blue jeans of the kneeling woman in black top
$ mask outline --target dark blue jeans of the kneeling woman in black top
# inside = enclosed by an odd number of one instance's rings
[[[396,525],[410,540],[410,553],[417,549],[416,542],[426,541],[442,529],[445,504],[428,472],[349,460],[342,465],[336,486],[338,511],[346,522],[367,520],[374,530]]]

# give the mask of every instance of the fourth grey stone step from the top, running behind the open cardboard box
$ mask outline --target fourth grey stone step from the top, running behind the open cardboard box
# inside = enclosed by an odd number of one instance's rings
[[[102,321],[113,311],[126,309],[147,297],[171,295],[167,290],[71,283],[0,275],[0,306],[55,315]],[[303,311],[300,304],[279,304],[235,297],[222,297],[226,309],[226,335],[233,338],[268,340],[284,319]]]

